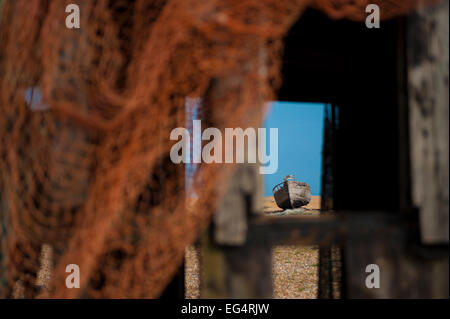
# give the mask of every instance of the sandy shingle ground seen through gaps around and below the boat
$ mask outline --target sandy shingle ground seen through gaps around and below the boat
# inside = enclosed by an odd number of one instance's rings
[[[272,196],[264,198],[264,212],[276,215],[315,215],[320,209],[320,196],[298,210],[282,211]],[[275,246],[273,257],[273,297],[277,299],[313,299],[317,296],[319,251],[317,247]],[[186,249],[186,298],[200,296],[199,258],[193,247]]]

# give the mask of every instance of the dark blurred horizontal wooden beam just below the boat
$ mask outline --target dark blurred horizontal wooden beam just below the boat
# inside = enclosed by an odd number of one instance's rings
[[[349,234],[361,242],[403,237],[412,224],[384,212],[336,212],[315,216],[261,216],[249,224],[247,243],[267,245],[343,245]]]

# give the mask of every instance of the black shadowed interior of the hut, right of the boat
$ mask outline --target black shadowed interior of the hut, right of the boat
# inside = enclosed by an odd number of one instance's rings
[[[394,19],[367,29],[308,10],[286,38],[278,99],[325,102],[334,109],[336,210],[400,209],[398,153],[404,145],[397,132],[404,92],[397,80],[405,74],[397,58],[404,53],[403,23]]]

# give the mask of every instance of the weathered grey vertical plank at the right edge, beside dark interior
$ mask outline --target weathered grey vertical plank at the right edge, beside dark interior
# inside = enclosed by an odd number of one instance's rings
[[[422,241],[449,242],[449,3],[408,19],[412,198]]]

